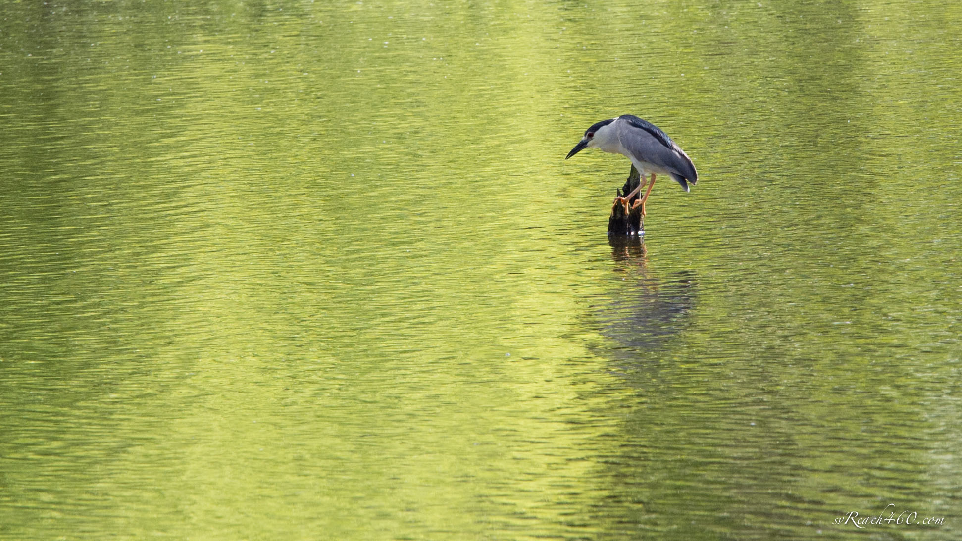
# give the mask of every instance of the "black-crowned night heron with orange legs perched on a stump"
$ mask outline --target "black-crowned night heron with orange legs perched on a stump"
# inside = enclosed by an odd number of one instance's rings
[[[657,126],[631,114],[622,114],[609,120],[596,122],[585,131],[585,136],[574,145],[565,160],[584,148],[592,147],[604,152],[624,155],[631,160],[635,169],[638,169],[642,182],[631,193],[624,196],[622,200],[625,204],[645,187],[648,182],[647,174],[651,173],[651,184],[648,184],[645,197],[640,198],[643,216],[648,194],[655,185],[655,173],[671,175],[671,178],[681,184],[685,191],[688,191],[689,183],[694,185],[698,182],[695,164],[685,151],[681,150],[681,147]]]

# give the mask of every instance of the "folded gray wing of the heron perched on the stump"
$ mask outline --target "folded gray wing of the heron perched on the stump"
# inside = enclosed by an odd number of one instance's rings
[[[643,161],[664,167],[671,178],[688,191],[688,183],[698,182],[692,159],[657,126],[630,114],[622,114],[619,138],[625,150]]]

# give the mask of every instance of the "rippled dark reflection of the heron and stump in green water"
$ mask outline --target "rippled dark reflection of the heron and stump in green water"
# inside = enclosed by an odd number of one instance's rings
[[[659,275],[649,265],[642,237],[608,238],[620,275],[618,294],[598,307],[601,333],[614,340],[614,349],[629,352],[658,350],[688,324],[695,306],[696,276],[689,269]]]

